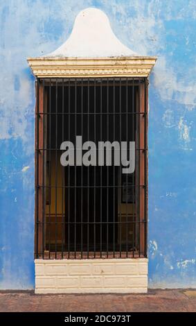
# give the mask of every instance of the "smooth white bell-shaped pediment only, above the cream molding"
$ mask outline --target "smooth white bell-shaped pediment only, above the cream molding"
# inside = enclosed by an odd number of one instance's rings
[[[114,35],[105,13],[87,8],[75,18],[68,40],[57,50],[44,55],[47,58],[105,58],[138,56]]]

